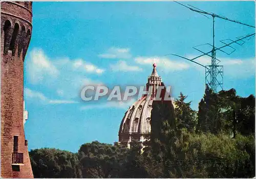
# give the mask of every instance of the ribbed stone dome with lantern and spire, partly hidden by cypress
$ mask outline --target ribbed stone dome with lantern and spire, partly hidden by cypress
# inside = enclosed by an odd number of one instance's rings
[[[125,112],[119,129],[119,142],[130,147],[131,141],[145,142],[149,140],[151,133],[152,103],[157,88],[161,85],[161,77],[158,76],[156,64],[153,64],[151,76],[147,79],[146,90],[152,88],[152,96],[148,100],[143,95]]]

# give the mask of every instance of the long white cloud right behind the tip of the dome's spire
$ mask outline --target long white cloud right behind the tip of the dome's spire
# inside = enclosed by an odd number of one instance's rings
[[[137,57],[135,62],[142,65],[156,63],[157,66],[168,70],[184,70],[189,68],[188,63],[170,60],[165,57]]]

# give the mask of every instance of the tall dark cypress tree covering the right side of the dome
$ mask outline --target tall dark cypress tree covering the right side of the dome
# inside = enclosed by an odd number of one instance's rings
[[[164,84],[161,84],[164,86]],[[151,112],[151,155],[156,166],[160,167],[158,177],[182,177],[177,163],[177,127],[172,101],[164,100],[166,93],[161,91],[162,100],[154,100]],[[174,167],[175,166],[175,167]]]

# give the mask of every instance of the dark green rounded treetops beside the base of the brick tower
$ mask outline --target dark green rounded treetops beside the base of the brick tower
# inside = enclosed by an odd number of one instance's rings
[[[81,177],[77,154],[55,148],[34,149],[29,152],[35,178]]]

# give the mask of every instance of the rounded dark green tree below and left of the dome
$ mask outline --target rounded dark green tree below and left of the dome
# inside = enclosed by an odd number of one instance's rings
[[[123,152],[123,154],[121,154]],[[94,141],[82,144],[78,158],[83,177],[118,177],[123,165],[127,149],[119,145],[111,145]]]

